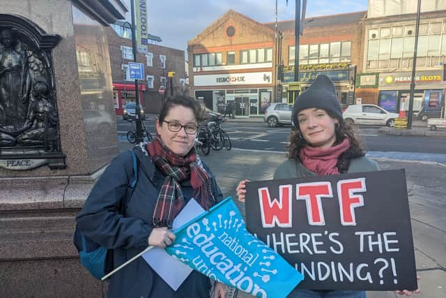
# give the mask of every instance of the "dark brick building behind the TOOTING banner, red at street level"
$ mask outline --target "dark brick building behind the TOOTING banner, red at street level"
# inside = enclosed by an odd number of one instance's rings
[[[113,27],[113,28],[112,28]],[[116,114],[121,115],[126,102],[135,100],[134,80],[128,73],[128,62],[133,61],[131,33],[122,22],[107,28],[110,64],[114,87]],[[161,39],[149,36],[153,42]],[[146,80],[139,80],[139,98],[146,113],[158,113],[162,98],[187,93],[185,55],[183,50],[149,44],[147,54],[137,52],[137,61],[144,64]],[[173,71],[170,80],[167,73]],[[172,83],[172,84],[171,84]],[[171,88],[172,86],[172,88]],[[159,90],[164,89],[164,95]]]

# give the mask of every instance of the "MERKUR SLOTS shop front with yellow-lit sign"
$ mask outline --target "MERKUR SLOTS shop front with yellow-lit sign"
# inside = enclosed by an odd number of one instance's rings
[[[380,73],[378,105],[389,112],[399,112],[401,105],[408,112],[410,103],[409,72]],[[413,94],[414,117],[426,120],[440,117],[444,105],[446,82],[443,71],[426,70],[415,73],[415,91]]]

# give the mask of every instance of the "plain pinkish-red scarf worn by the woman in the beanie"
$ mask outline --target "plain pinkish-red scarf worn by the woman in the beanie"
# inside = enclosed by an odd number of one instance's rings
[[[310,146],[303,147],[299,152],[302,165],[318,176],[339,174],[336,167],[337,158],[350,147],[350,139],[346,137],[340,144],[328,149],[319,149]]]

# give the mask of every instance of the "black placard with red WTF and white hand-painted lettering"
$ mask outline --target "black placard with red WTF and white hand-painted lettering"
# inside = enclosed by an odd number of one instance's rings
[[[249,232],[304,275],[298,288],[415,290],[404,170],[254,181]]]

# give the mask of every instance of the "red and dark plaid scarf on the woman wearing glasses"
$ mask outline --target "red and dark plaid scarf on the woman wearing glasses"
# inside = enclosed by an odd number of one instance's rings
[[[180,157],[167,148],[160,135],[156,135],[153,141],[147,144],[147,149],[156,167],[166,175],[153,211],[152,221],[155,227],[171,228],[174,218],[185,205],[180,182],[188,178],[194,189],[194,199],[200,200],[199,204],[205,210],[212,206],[215,200],[212,181],[209,174],[197,163],[194,148],[187,156]]]

